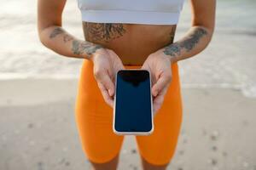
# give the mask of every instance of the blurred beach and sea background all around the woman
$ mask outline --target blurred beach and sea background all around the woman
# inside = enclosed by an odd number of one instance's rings
[[[82,60],[39,42],[37,1],[0,3],[0,170],[90,169],[74,121]],[[255,8],[255,0],[219,0],[212,42],[179,61],[183,127],[168,169],[256,170]],[[63,26],[84,38],[76,0],[67,0]],[[186,0],[175,39],[189,26]],[[119,169],[140,165],[126,136]]]

